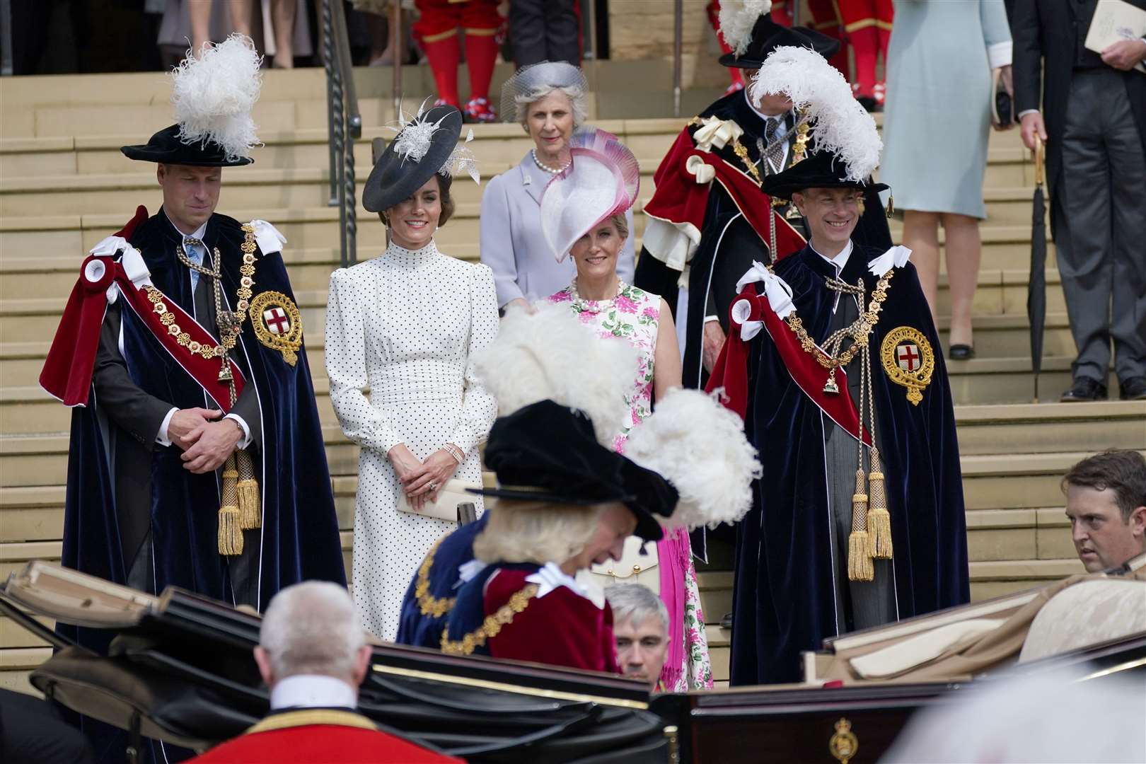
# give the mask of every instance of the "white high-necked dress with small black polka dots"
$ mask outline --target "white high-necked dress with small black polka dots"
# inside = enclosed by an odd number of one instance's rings
[[[397,510],[401,483],[386,452],[406,443],[424,459],[450,442],[465,451],[455,478],[481,481],[478,443],[496,403],[469,359],[497,333],[493,271],[438,252],[433,242],[386,252],[330,275],[327,375],[343,432],[362,447],[354,505],[353,591],[363,625],[398,632],[402,596],[430,546],[456,527]],[[474,497],[479,511],[480,497]]]

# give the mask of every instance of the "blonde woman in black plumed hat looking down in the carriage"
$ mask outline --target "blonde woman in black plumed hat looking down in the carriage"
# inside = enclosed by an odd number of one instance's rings
[[[586,413],[552,400],[497,420],[486,463],[499,487],[480,490],[496,505],[444,652],[620,672],[612,611],[578,574],[619,559],[630,535],[737,520],[759,471],[737,418],[697,391],[670,393],[630,444],[626,456],[602,444]]]

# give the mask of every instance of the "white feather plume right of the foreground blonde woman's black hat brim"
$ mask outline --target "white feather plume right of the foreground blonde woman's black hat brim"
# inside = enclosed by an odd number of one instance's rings
[[[752,481],[761,475],[744,423],[714,395],[677,388],[629,433],[625,456],[659,472],[681,501],[668,528],[716,527],[752,509]]]

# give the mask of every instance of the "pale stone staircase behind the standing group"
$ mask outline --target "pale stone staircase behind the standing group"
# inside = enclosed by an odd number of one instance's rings
[[[499,71],[499,79],[508,72]],[[411,92],[430,92],[427,72],[407,70]],[[621,136],[641,160],[641,203],[682,120],[669,113],[659,62],[601,62],[590,73],[594,124]],[[653,87],[649,84],[653,82]],[[366,128],[355,148],[359,186],[369,171],[369,139],[390,133],[388,73],[361,70]],[[464,86],[463,86],[464,89]],[[685,93],[692,113],[719,90]],[[69,412],[37,385],[60,310],[87,249],[160,195],[150,165],[119,153],[171,121],[167,84],[157,74],[6,78],[0,81],[0,578],[30,559],[58,559]],[[410,100],[407,108],[417,108]],[[324,84],[321,72],[266,73],[256,110],[266,145],[257,164],[228,170],[219,208],[241,220],[273,221],[288,237],[283,257],[303,310],[307,352],[330,460],[347,562],[353,543],[356,448],[330,408],[323,365],[323,320],[330,271],[338,267],[338,213],[329,197]],[[515,125],[474,128],[482,175],[515,165],[531,142]],[[1061,509],[1059,476],[1082,456],[1109,447],[1146,450],[1146,404],[1031,404],[1026,317],[1033,165],[1017,133],[992,134],[984,184],[990,219],[982,226],[983,267],[975,296],[979,357],[949,363],[964,470],[975,599],[1081,570]],[[482,183],[484,187],[484,183]],[[477,259],[482,187],[454,186],[457,213],[438,236],[455,257]],[[359,257],[384,246],[384,230],[359,210]],[[642,215],[634,235],[643,231]],[[639,241],[638,241],[639,245]],[[1053,251],[1047,270],[1044,400],[1069,384],[1073,344]],[[940,312],[948,299],[941,277]],[[945,326],[941,330],[945,337]],[[1113,381],[1113,380],[1112,380]],[[728,676],[731,574],[700,574],[715,676]],[[26,690],[28,671],[48,654],[0,619],[0,686]]]

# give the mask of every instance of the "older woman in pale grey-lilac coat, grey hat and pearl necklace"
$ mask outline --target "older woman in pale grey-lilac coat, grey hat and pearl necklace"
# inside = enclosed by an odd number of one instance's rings
[[[570,139],[584,125],[588,84],[563,61],[525,66],[502,87],[501,113],[521,125],[534,148],[509,172],[492,179],[481,196],[481,262],[494,271],[497,306],[528,305],[566,288],[572,259],[554,260],[541,236],[541,195],[570,164]],[[633,230],[633,211],[626,213]],[[634,237],[618,258],[617,274],[633,282]]]

